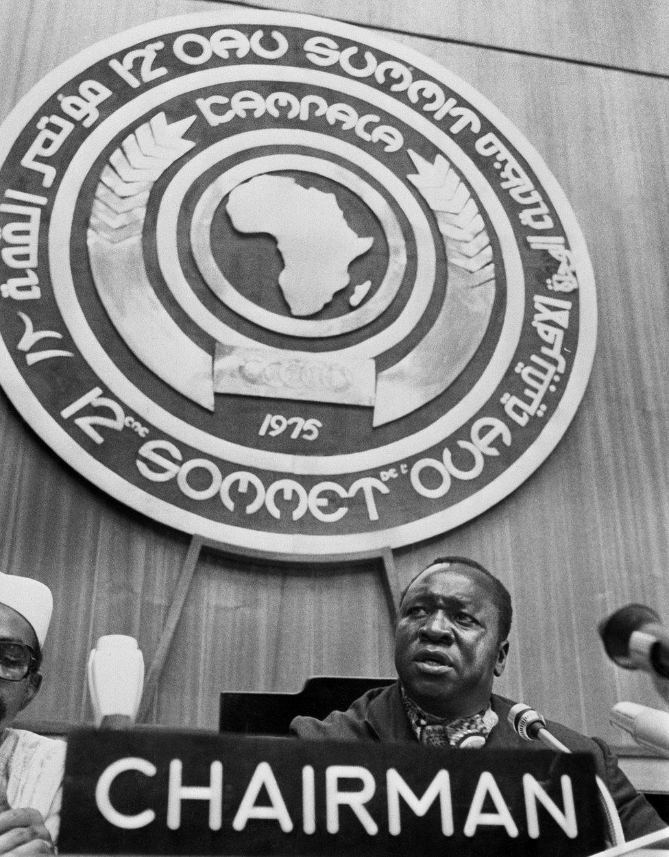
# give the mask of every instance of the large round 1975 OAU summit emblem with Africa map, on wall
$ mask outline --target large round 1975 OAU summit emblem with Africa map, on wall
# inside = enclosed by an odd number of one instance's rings
[[[594,354],[576,219],[455,75],[333,21],[138,27],[0,132],[0,375],[128,506],[339,554],[462,524],[547,457]]]

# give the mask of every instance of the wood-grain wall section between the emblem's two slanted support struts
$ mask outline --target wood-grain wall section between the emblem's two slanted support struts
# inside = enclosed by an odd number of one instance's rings
[[[176,632],[155,716],[215,727],[222,689],[295,692],[310,675],[332,674],[393,674],[378,572],[367,563],[280,569],[208,553]]]

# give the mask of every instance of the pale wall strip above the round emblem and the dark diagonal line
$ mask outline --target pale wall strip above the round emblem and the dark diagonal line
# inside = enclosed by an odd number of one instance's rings
[[[244,3],[218,0],[26,0],[0,6],[3,115],[33,83],[63,59],[87,45],[146,21],[168,15]],[[253,3],[249,3],[253,7]],[[664,0],[639,7],[634,0],[266,0],[268,9],[284,9],[366,27],[385,27],[433,37],[471,41],[505,50],[604,63],[654,74],[669,74],[666,44],[669,16]],[[403,37],[398,36],[398,39]],[[26,50],[39,45],[39,50]],[[493,57],[499,52],[490,51]],[[483,56],[487,51],[481,50]],[[559,65],[559,64],[558,64]],[[547,61],[547,68],[553,63]],[[16,74],[17,69],[19,73]],[[456,68],[453,69],[457,71]],[[534,87],[529,87],[530,89]]]

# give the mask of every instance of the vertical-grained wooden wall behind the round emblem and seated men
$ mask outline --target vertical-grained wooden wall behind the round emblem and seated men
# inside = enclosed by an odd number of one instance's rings
[[[0,117],[86,45],[143,21],[221,5],[5,0]],[[612,704],[630,699],[660,706],[660,698],[648,677],[607,660],[596,622],[633,601],[669,620],[666,3],[263,5],[429,33],[429,39],[395,38],[461,75],[505,112],[576,211],[594,265],[600,328],[574,422],[509,498],[445,536],[397,551],[395,561],[401,583],[445,553],[469,555],[498,573],[516,608],[511,661],[499,691],[624,744],[608,725]],[[0,449],[0,570],[41,578],[57,602],[44,690],[29,713],[87,719],[88,651],[101,634],[128,633],[151,661],[188,539],[81,479],[3,395]],[[222,689],[289,691],[310,674],[391,672],[392,631],[374,574],[354,567],[291,572],[206,553],[149,719],[215,728]]]

